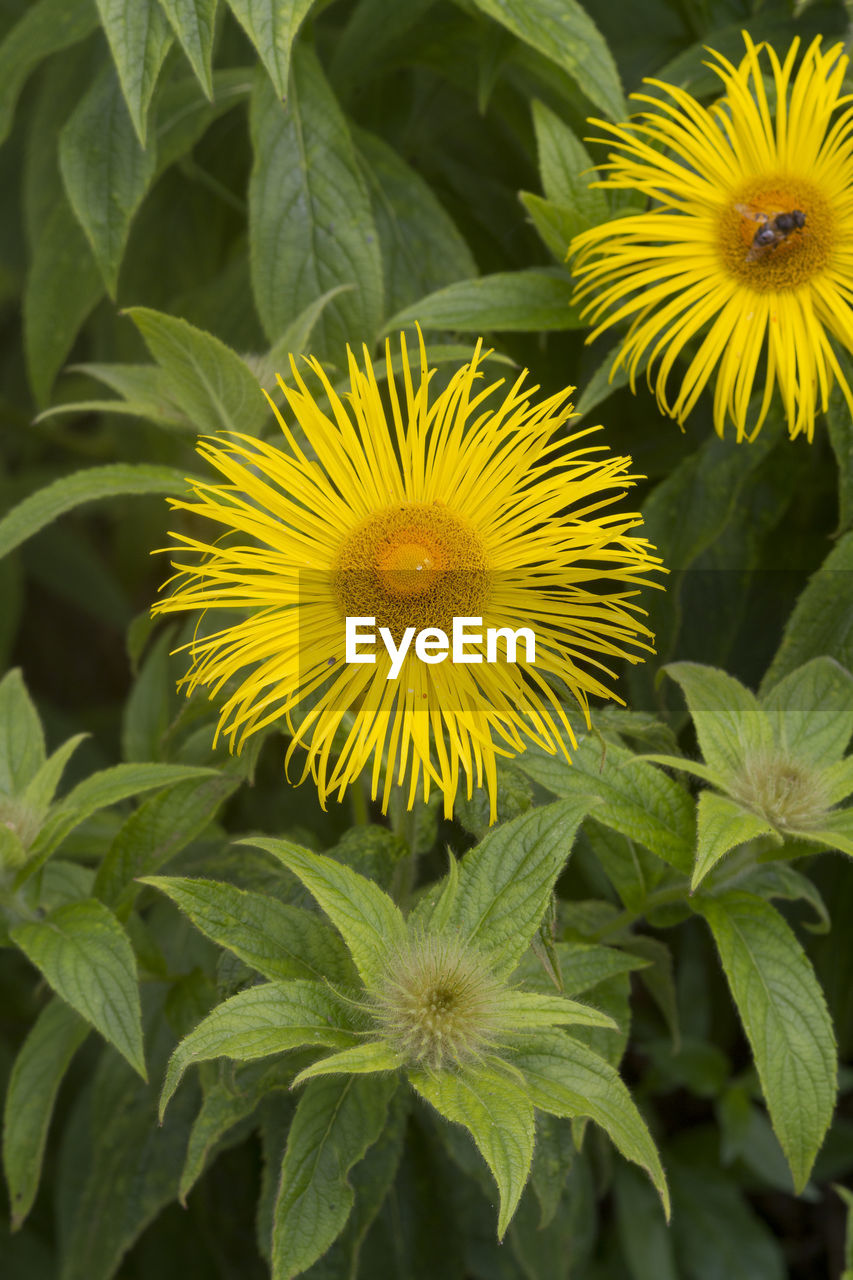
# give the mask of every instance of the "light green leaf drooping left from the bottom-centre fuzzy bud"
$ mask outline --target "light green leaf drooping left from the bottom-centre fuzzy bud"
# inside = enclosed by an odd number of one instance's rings
[[[163,1082],[160,1116],[193,1062],[213,1057],[248,1062],[301,1044],[348,1048],[356,1042],[357,1037],[347,1029],[346,1006],[330,987],[298,978],[247,987],[216,1005],[181,1041]]]

